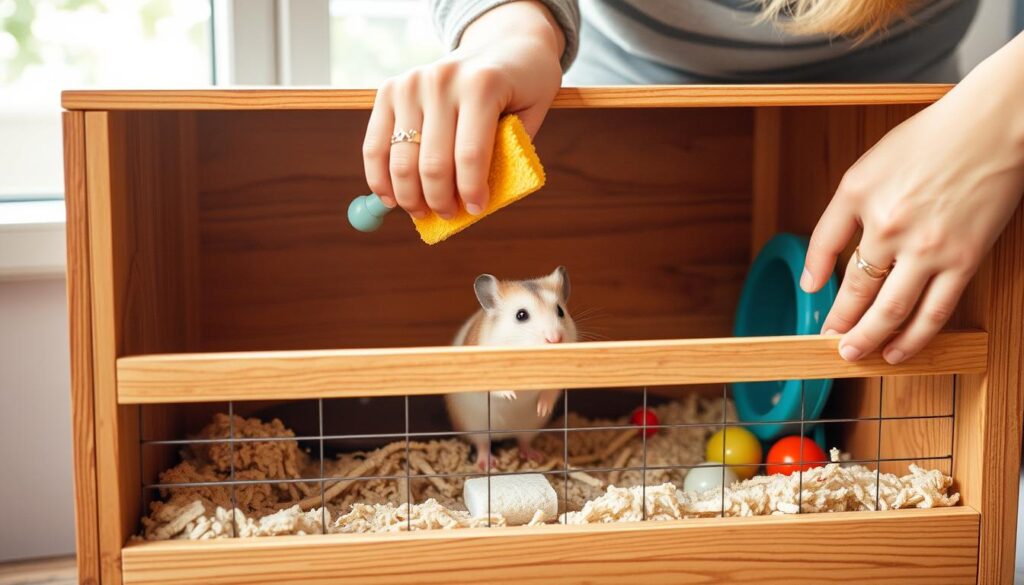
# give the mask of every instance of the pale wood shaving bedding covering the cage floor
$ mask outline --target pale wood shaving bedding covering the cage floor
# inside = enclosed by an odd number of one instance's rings
[[[725,417],[735,420],[731,402]],[[653,410],[663,424],[696,423],[695,426],[663,428],[647,440],[647,463],[692,465],[703,460],[705,443],[721,424],[722,401],[703,400],[689,394]],[[563,426],[561,419],[551,428]],[[590,420],[569,413],[570,427],[623,426],[628,417]],[[702,426],[707,425],[707,426]],[[218,414],[200,433],[202,438],[226,438],[233,426],[236,437],[291,437],[294,433],[280,420],[263,422]],[[629,436],[626,436],[629,435]],[[548,456],[538,463],[522,460],[514,448],[499,449],[497,470],[536,471],[563,468],[562,433],[541,433],[535,448]],[[610,444],[621,448],[608,450]],[[568,486],[562,473],[547,477],[559,497],[561,521],[618,521],[639,519],[641,471],[626,469],[612,472],[588,471],[609,467],[641,467],[643,440],[639,433],[622,429],[570,432]],[[161,473],[162,484],[182,482],[221,482],[230,476],[231,452],[227,444],[191,445],[181,454],[182,461]],[[208,539],[238,536],[273,536],[282,534],[318,534],[395,532],[412,530],[459,529],[487,526],[488,518],[471,517],[462,502],[464,477],[416,477],[416,474],[476,473],[469,446],[459,440],[410,442],[409,458],[413,473],[407,483],[406,442],[394,442],[380,449],[352,452],[325,460],[322,509],[319,460],[310,457],[295,441],[242,442],[233,453],[234,476],[240,479],[301,479],[309,482],[240,485],[234,503],[224,486],[169,488],[161,490],[163,501],[151,504],[151,513],[142,518],[146,540]],[[580,464],[580,461],[586,461]],[[825,473],[827,469],[828,472]],[[840,469],[841,471],[837,471]],[[957,496],[946,496],[951,480],[938,471],[910,467],[910,475],[896,477],[882,474],[883,509],[952,505]],[[398,475],[395,479],[359,479],[360,476]],[[647,471],[648,518],[666,519],[718,515],[721,492],[702,494],[679,492],[686,469]],[[868,477],[869,475],[869,477]],[[805,511],[871,509],[876,473],[864,467],[828,465],[804,474]],[[909,479],[908,479],[909,478]],[[611,482],[611,479],[614,479]],[[907,484],[909,482],[909,484]],[[636,488],[615,488],[614,483]],[[797,487],[779,476],[754,477],[726,489],[727,515],[795,513]],[[409,501],[418,502],[408,505]],[[858,507],[859,506],[859,507]],[[567,514],[566,514],[567,512]],[[325,530],[325,521],[327,529]],[[538,521],[532,524],[543,524]],[[490,526],[505,526],[499,514]]]

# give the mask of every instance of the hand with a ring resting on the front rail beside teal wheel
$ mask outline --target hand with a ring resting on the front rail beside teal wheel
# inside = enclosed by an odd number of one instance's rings
[[[890,364],[921,350],[948,321],[1020,202],[1019,93],[1007,100],[993,89],[1005,76],[977,75],[865,153],[814,229],[805,291],[821,288],[858,228],[861,258],[883,270],[892,266],[887,277],[871,278],[856,255],[850,259],[822,327],[844,334],[840,354],[848,361],[883,345]]]

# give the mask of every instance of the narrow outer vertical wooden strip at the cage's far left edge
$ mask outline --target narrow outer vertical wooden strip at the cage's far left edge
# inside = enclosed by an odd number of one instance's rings
[[[71,342],[72,448],[75,464],[75,550],[79,582],[99,583],[92,297],[85,176],[85,114],[63,118],[65,204],[68,210],[68,317]]]

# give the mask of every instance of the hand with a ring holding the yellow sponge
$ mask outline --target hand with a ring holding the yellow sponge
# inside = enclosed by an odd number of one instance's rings
[[[362,145],[370,189],[418,218],[451,218],[460,200],[482,212],[498,119],[517,114],[537,133],[561,85],[563,45],[547,8],[512,2],[477,18],[440,60],[384,82]],[[390,143],[408,129],[421,143]]]

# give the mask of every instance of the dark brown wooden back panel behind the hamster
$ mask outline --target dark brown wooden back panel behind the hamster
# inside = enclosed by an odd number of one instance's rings
[[[572,280],[588,338],[727,335],[750,255],[750,110],[555,111],[548,184],[447,242],[346,220],[365,112],[202,113],[204,350],[444,345],[472,282]]]

